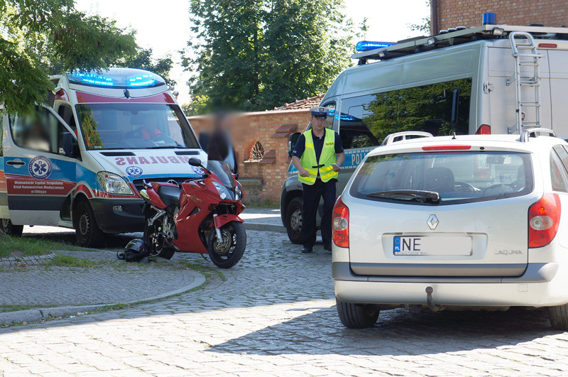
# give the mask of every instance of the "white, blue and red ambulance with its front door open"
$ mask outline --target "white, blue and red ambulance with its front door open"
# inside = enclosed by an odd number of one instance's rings
[[[143,180],[183,182],[207,160],[168,85],[126,68],[51,80],[48,105],[0,118],[0,234],[65,226],[87,246],[141,231]]]

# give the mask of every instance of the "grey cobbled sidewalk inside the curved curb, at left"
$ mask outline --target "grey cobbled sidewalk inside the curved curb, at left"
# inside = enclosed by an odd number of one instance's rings
[[[4,267],[0,272],[0,306],[134,302],[182,289],[202,276],[167,262],[126,263],[116,259],[116,253],[108,251],[60,253],[105,263],[93,268]]]

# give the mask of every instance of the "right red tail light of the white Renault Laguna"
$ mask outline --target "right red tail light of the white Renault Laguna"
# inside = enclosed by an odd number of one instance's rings
[[[555,239],[560,222],[560,198],[545,194],[528,209],[528,247],[541,247]]]

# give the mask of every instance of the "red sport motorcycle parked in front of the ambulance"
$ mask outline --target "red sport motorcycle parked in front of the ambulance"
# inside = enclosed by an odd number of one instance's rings
[[[229,165],[197,158],[190,165],[200,177],[182,183],[145,183],[141,196],[145,226],[143,241],[151,256],[170,259],[176,251],[209,254],[220,268],[231,268],[246,248],[239,214],[243,187]]]

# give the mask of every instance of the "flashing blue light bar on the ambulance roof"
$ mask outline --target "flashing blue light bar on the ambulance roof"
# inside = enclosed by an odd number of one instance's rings
[[[108,70],[81,72],[67,75],[72,84],[92,87],[112,87],[117,89],[150,88],[165,85],[165,80],[152,72],[133,68],[109,68]]]

